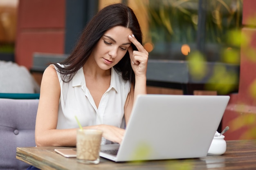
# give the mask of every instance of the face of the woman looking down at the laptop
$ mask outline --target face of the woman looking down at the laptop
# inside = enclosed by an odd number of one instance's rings
[[[126,54],[131,44],[128,39],[129,35],[132,35],[132,31],[123,26],[115,26],[109,29],[99,39],[90,57],[94,58],[101,69],[110,69]]]

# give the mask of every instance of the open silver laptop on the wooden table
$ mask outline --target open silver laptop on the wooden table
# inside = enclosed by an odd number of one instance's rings
[[[228,102],[218,95],[139,95],[121,144],[102,145],[100,156],[115,162],[205,157]]]

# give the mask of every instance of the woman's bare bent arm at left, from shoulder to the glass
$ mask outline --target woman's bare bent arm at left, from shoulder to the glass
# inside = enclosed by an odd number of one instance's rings
[[[75,129],[56,130],[61,87],[54,66],[43,73],[36,115],[36,146],[75,146]]]

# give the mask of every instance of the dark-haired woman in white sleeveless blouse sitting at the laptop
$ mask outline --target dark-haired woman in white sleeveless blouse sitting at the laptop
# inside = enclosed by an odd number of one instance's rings
[[[43,74],[36,146],[76,146],[75,116],[120,143],[134,100],[146,94],[148,52],[132,9],[112,4],[85,27],[71,55]],[[124,121],[125,120],[125,121]]]

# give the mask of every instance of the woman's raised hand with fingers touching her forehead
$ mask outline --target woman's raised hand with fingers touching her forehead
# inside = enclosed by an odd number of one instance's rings
[[[148,64],[148,51],[137,41],[134,35],[128,36],[129,40],[137,47],[138,51],[133,51],[132,46],[128,48],[132,70],[135,76],[146,76]]]

